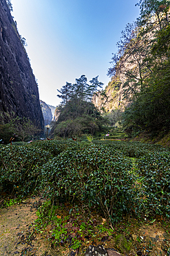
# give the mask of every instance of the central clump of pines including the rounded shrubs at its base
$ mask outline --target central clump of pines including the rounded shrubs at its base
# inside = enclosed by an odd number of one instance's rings
[[[87,84],[87,77],[81,75],[76,78],[76,83],[66,82],[57,95],[63,101],[58,107],[60,112],[59,119],[52,129],[52,133],[58,136],[81,136],[81,133],[87,132],[94,134],[100,125],[98,121],[102,121],[100,111],[96,109],[92,103],[94,93],[103,86],[98,81],[98,76],[92,78]]]

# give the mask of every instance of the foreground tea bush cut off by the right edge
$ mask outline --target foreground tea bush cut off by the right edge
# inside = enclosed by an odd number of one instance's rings
[[[143,176],[147,196],[146,208],[150,214],[170,217],[170,156],[169,152],[148,152],[138,159],[137,170]]]

